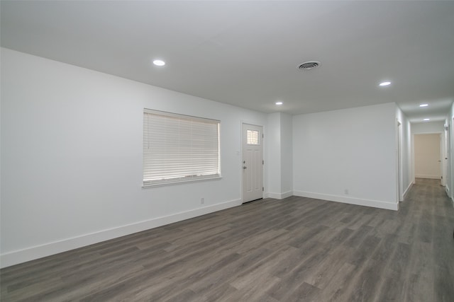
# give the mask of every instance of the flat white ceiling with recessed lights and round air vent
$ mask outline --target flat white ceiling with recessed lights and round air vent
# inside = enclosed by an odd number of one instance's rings
[[[261,112],[438,121],[454,100],[454,1],[1,1],[0,21],[2,47]]]

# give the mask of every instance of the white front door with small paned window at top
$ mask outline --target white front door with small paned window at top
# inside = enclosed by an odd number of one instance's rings
[[[263,197],[262,127],[243,124],[243,202]]]

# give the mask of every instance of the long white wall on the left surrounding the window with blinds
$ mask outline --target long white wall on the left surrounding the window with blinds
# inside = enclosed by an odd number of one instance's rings
[[[221,120],[223,178],[142,189],[143,108]],[[1,265],[239,205],[241,122],[267,115],[1,49]]]

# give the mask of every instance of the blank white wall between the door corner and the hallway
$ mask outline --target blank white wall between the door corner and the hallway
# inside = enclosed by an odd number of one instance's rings
[[[398,209],[396,124],[394,103],[294,116],[294,194]]]

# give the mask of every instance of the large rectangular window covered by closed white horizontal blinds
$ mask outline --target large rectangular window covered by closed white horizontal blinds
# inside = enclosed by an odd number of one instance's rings
[[[220,177],[217,120],[143,111],[143,187]]]

